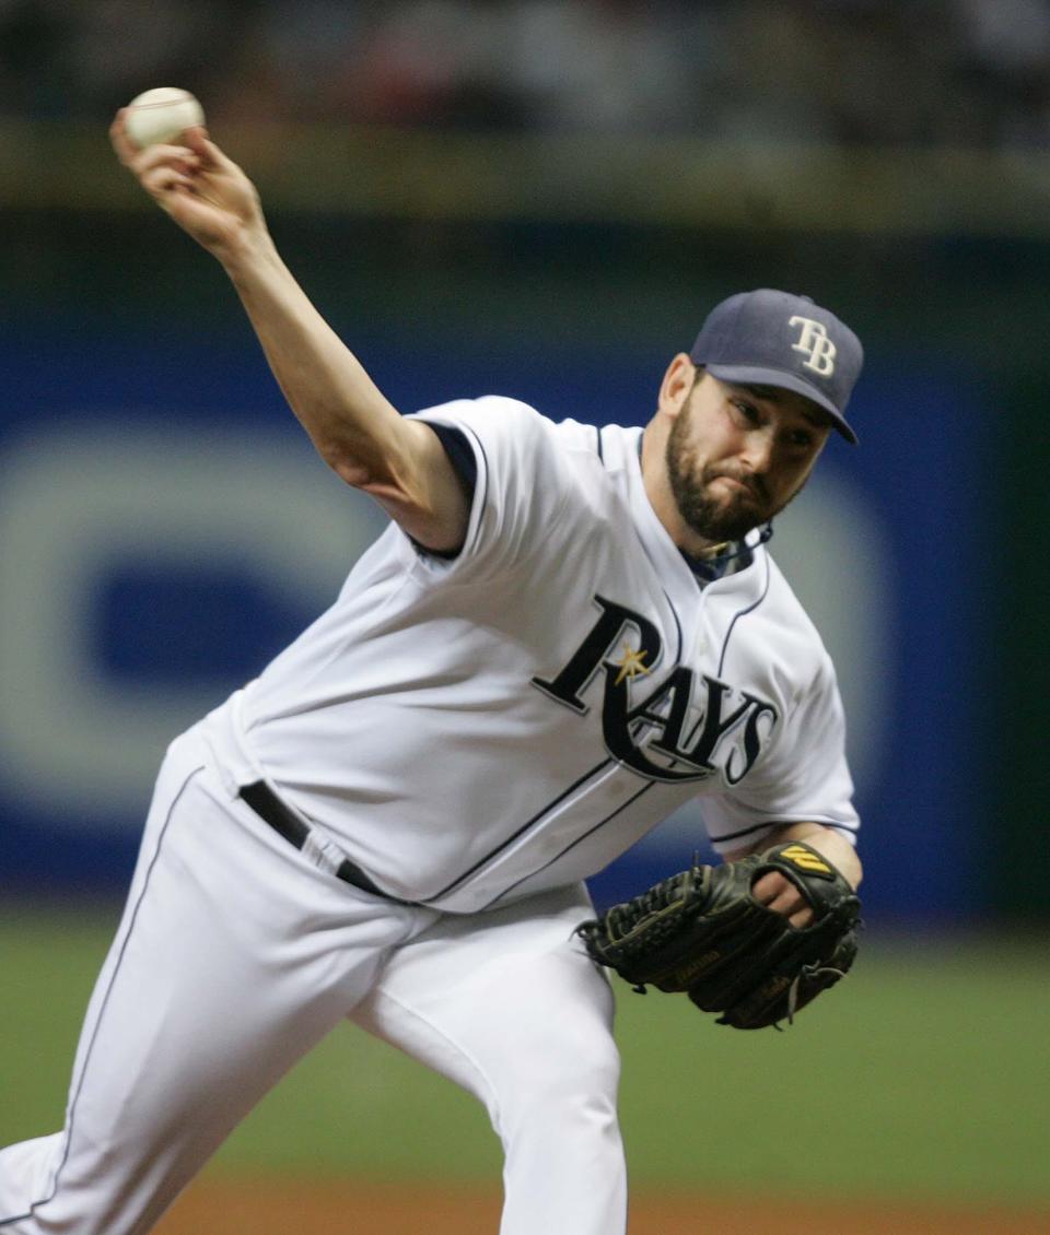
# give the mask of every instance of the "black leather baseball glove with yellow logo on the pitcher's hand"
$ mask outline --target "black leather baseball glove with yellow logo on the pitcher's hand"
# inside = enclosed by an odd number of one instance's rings
[[[792,926],[760,904],[754,883],[779,871],[813,908]],[[634,988],[687,992],[719,1025],[779,1028],[846,974],[857,952],[860,900],[803,841],[775,845],[723,866],[693,866],[653,884],[577,932],[590,957]]]

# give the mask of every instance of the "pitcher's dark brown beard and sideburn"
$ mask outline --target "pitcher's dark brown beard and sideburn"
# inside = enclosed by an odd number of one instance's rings
[[[787,505],[770,501],[763,477],[741,472],[730,463],[707,464],[697,468],[695,450],[688,441],[688,415],[679,415],[667,438],[667,475],[674,504],[686,526],[704,540],[742,540],[752,527],[768,522]],[[730,477],[744,489],[716,495],[710,490],[713,480]],[[792,498],[794,494],[792,494]]]

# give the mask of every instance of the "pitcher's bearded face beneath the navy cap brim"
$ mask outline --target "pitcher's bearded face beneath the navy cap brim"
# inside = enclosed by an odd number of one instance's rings
[[[713,543],[739,540],[802,490],[829,432],[802,395],[699,374],[667,441],[683,522]]]

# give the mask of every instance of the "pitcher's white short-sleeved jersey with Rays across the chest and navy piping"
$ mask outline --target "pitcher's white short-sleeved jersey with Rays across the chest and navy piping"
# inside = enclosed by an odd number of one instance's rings
[[[474,452],[463,548],[379,537],[204,722],[231,792],[266,778],[382,888],[455,913],[590,876],[694,795],[720,850],[855,832],[834,668],[757,535],[702,587],[640,429],[498,396],[419,415]]]

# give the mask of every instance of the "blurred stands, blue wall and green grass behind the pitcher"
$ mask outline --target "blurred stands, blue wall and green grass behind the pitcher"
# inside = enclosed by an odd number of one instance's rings
[[[0,1144],[61,1121],[164,745],[379,527],[110,156],[163,84],[405,410],[639,422],[751,287],[857,330],[861,446],[772,548],[850,713],[866,957],[772,1040],[623,999],[636,1186],[1050,1229],[1045,0],[0,0]],[[686,811],[597,899],[697,847]],[[324,1052],[216,1178],[492,1186],[481,1112],[350,1034]]]

